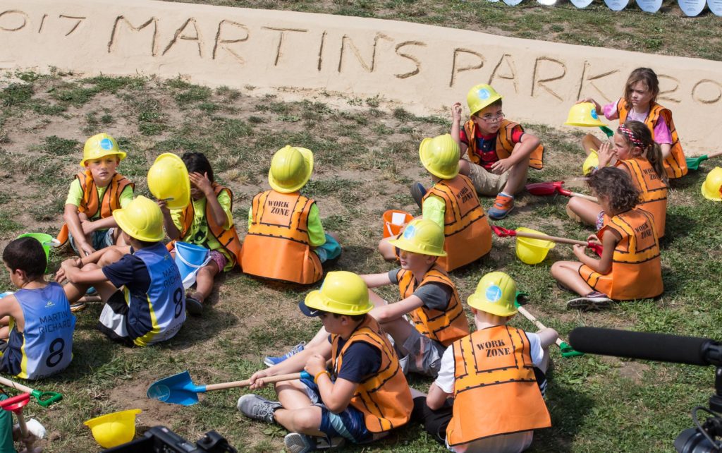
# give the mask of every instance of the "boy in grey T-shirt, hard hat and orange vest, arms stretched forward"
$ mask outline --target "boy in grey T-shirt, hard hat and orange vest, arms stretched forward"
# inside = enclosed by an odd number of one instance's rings
[[[444,233],[438,225],[414,219],[399,238],[391,241],[399,249],[401,269],[361,276],[368,288],[399,285],[401,301],[396,303],[389,304],[369,291],[375,305],[370,315],[393,338],[404,374],[436,376],[448,345],[469,335],[469,322],[456,285],[438,264],[438,259],[446,255],[443,244]],[[325,342],[327,336],[321,329],[305,348]],[[264,363],[271,366],[294,353],[298,351],[291,350],[284,357],[266,357]]]

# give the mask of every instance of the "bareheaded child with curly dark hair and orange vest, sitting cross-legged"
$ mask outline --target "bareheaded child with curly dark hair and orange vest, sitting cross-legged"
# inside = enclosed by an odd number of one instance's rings
[[[614,167],[600,168],[587,181],[609,220],[596,235],[589,236],[604,247],[599,259],[574,246],[579,262],[560,261],[552,265],[552,277],[560,286],[581,297],[567,302],[567,308],[600,309],[612,300],[652,298],[664,290],[659,241],[652,215],[636,209],[639,191],[630,176]]]

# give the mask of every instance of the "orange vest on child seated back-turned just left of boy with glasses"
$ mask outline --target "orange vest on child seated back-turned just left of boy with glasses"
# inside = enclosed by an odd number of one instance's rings
[[[442,179],[424,199],[435,195],[446,204],[444,211],[444,250],[437,261],[447,272],[476,261],[492,249],[492,230],[479,204],[474,184],[464,175]]]

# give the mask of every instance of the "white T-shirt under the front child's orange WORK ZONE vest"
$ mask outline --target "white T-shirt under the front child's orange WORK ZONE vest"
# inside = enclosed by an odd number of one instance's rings
[[[539,335],[526,332],[526,337],[529,338],[531,362],[534,363],[534,366],[539,366],[541,361],[544,360],[544,350],[541,349],[541,340],[539,340]],[[456,368],[456,363],[453,357],[453,346],[449,346],[446,348],[444,355],[441,357],[439,375],[434,381],[434,384],[436,384],[437,387],[448,394],[453,394],[453,384],[454,381],[456,381],[454,368]],[[533,436],[534,431],[523,431],[521,433],[487,437],[485,439],[453,447],[448,446],[448,444],[446,444],[446,446],[449,450],[456,453],[521,453],[529,448]]]

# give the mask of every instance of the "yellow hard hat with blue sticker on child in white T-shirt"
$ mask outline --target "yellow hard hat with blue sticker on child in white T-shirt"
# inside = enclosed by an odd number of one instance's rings
[[[504,272],[489,272],[479,280],[477,290],[469,295],[466,302],[474,309],[486,311],[497,316],[511,316],[518,312],[516,300],[516,282]]]

